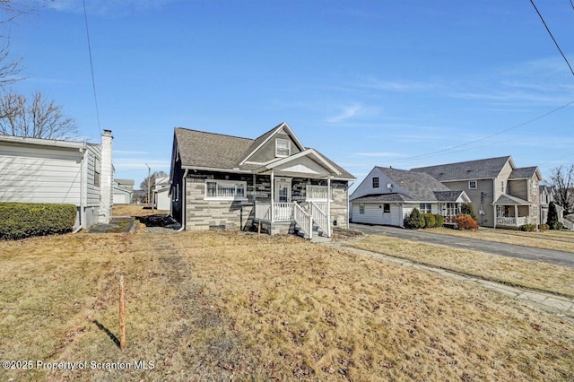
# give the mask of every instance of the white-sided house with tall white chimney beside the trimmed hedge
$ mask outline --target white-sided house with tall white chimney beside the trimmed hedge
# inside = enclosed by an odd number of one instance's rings
[[[0,135],[0,202],[75,204],[76,228],[109,222],[111,131],[101,143]]]

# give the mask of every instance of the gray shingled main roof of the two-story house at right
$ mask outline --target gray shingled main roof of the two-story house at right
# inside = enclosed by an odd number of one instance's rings
[[[411,169],[416,172],[425,172],[440,182],[450,180],[496,178],[506,163],[514,167],[512,157],[489,158],[477,161],[461,161],[457,163],[439,164],[437,166]]]

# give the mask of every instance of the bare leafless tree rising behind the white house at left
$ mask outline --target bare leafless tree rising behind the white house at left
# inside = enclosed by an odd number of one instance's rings
[[[36,91],[28,100],[22,94],[7,91],[0,97],[0,134],[44,139],[70,139],[78,127],[62,113],[62,106],[46,100]]]

